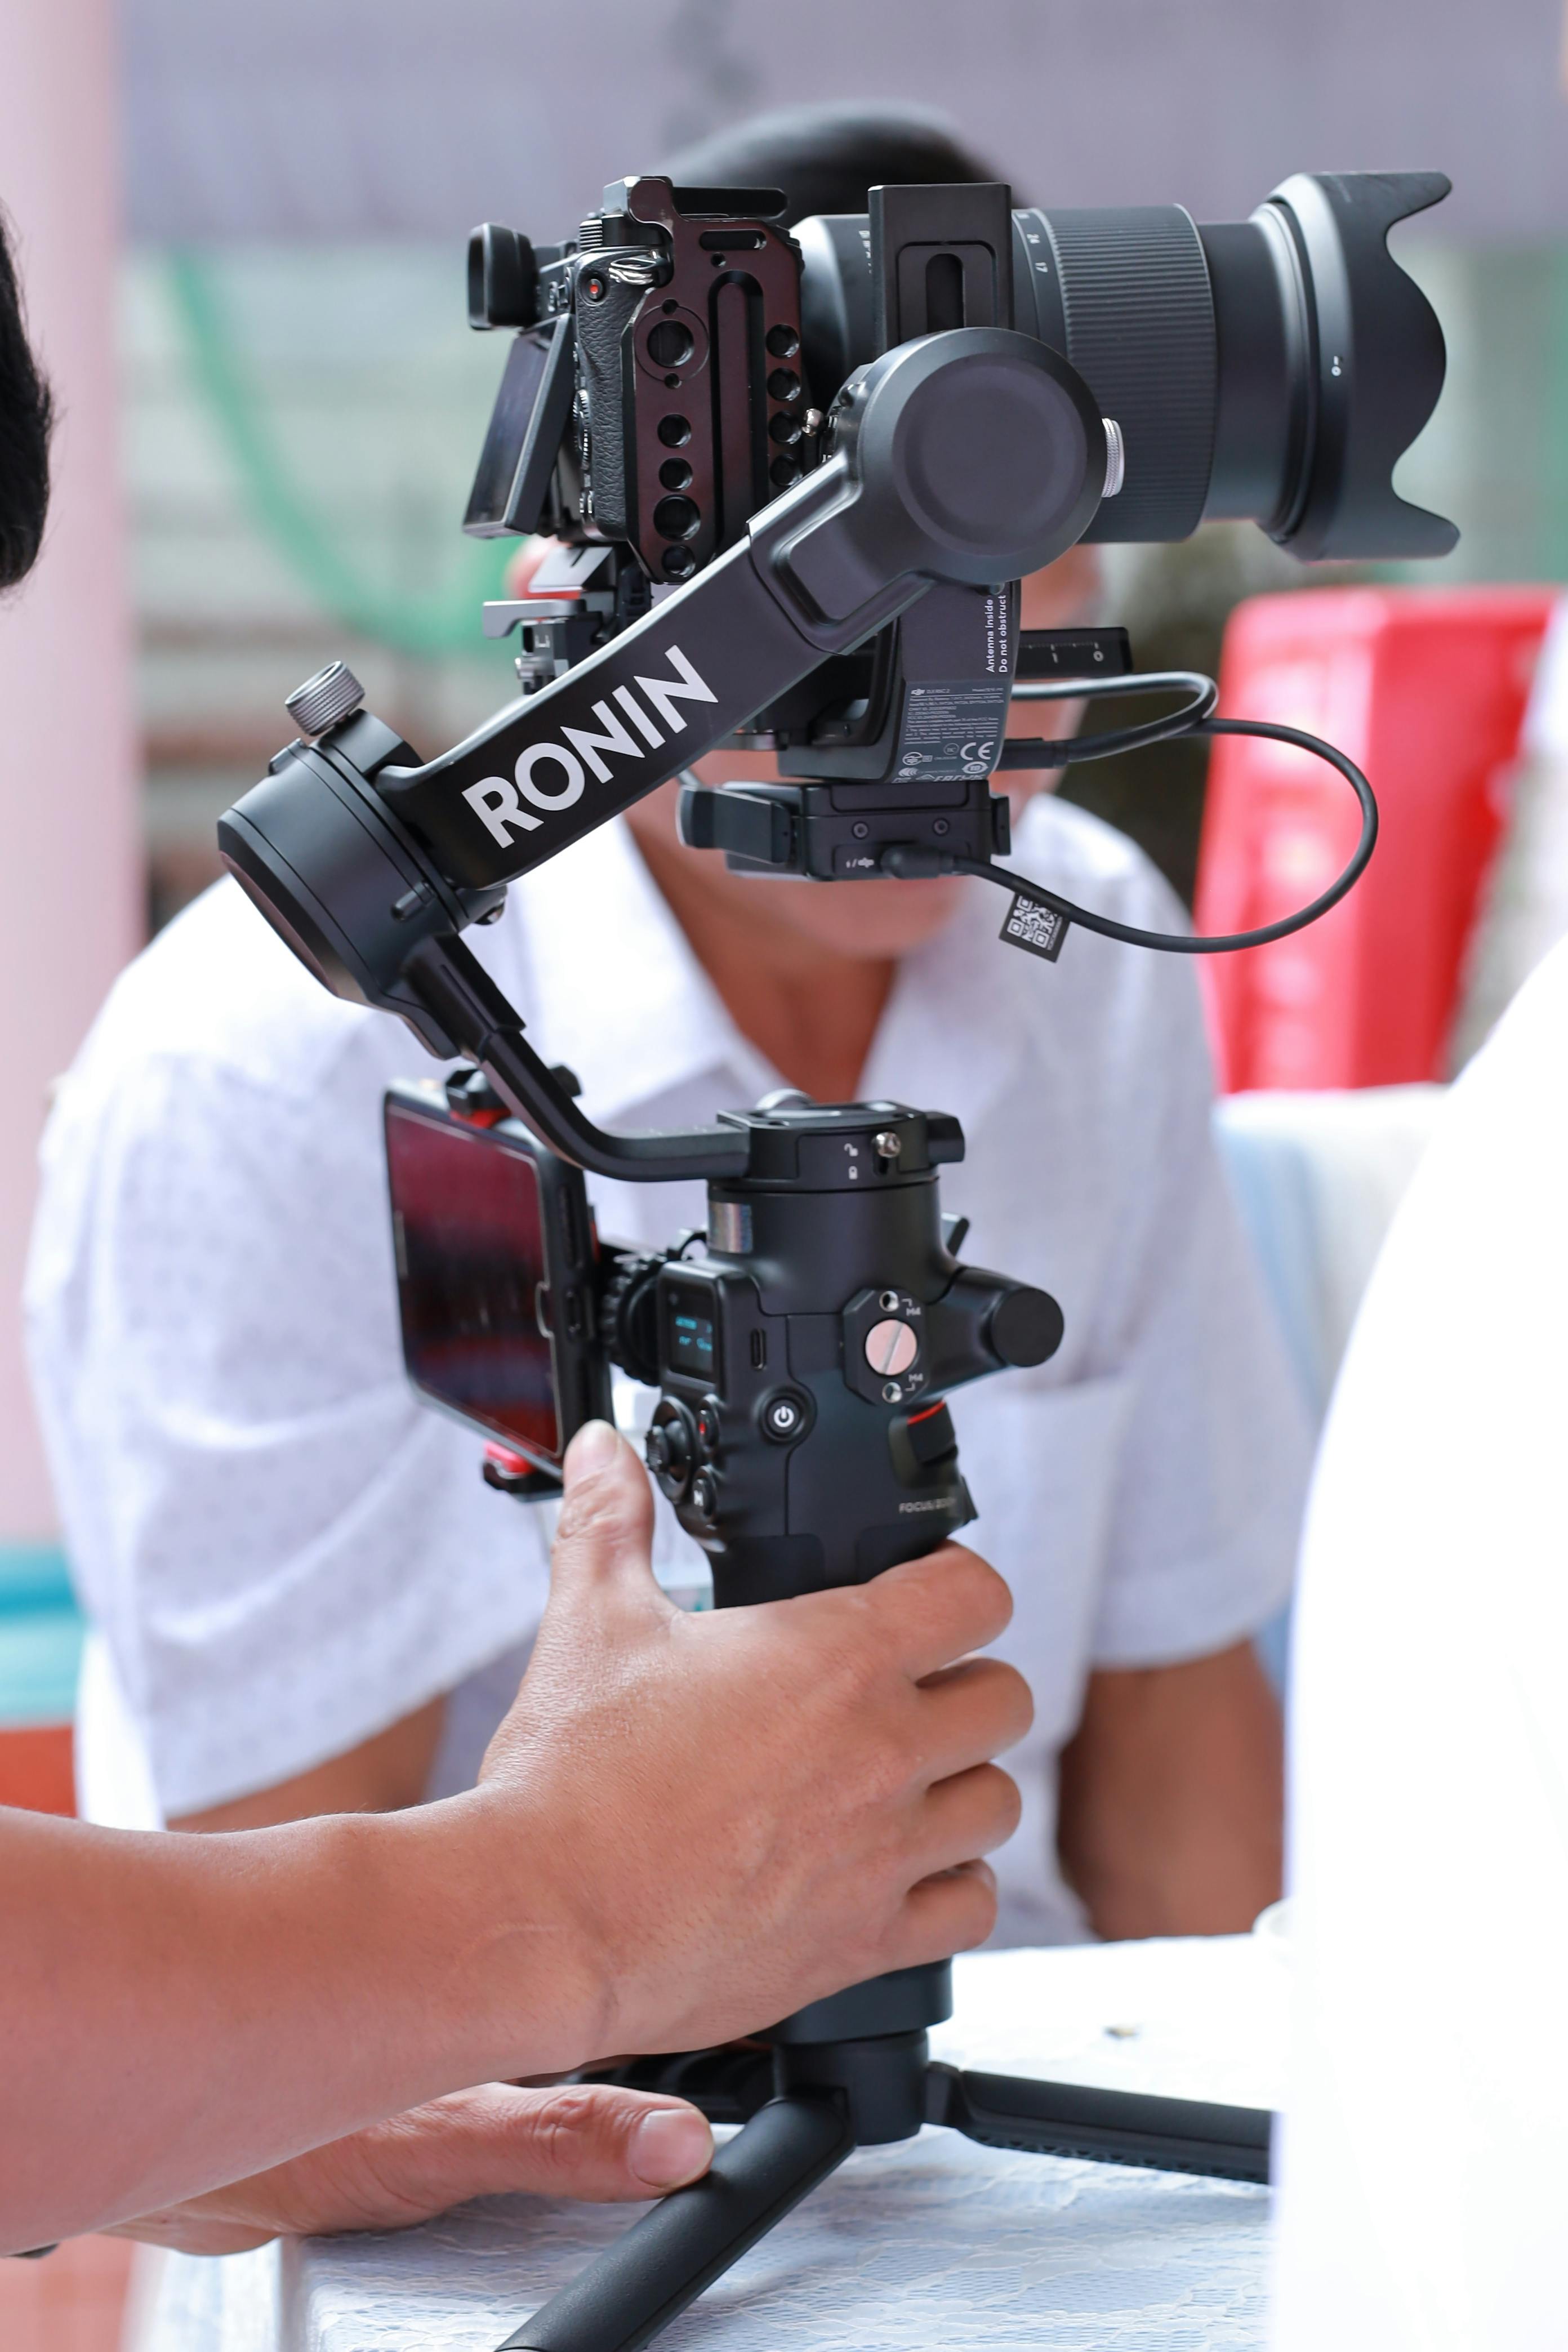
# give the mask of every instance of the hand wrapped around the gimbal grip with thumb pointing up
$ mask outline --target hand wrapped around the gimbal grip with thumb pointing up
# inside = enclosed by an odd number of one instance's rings
[[[990,1759],[1032,1703],[1013,1668],[969,1656],[1011,1616],[983,1559],[947,1545],[870,1585],[689,1616],[654,1583],[651,1526],[632,1449],[590,1425],[480,1776],[498,1889],[543,1877],[571,1922],[550,1919],[550,1964],[574,1955],[578,1976],[569,2065],[724,2042],[980,1943],[980,1856],[1018,1823]],[[520,1969],[541,1950],[536,1912],[522,1936],[498,1924]]]

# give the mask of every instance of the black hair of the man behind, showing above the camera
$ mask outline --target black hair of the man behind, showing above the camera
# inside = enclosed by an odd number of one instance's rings
[[[672,155],[663,172],[686,188],[783,188],[788,219],[865,212],[867,188],[1001,179],[945,115],[922,106],[788,106],[752,115]]]

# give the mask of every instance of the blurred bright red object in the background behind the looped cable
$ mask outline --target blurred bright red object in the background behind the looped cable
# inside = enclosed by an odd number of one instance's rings
[[[1321,922],[1204,960],[1220,1089],[1443,1077],[1476,915],[1554,588],[1319,588],[1239,604],[1220,713],[1324,736],[1382,818],[1366,875]],[[1356,800],[1286,743],[1218,736],[1194,920],[1244,931],[1345,866]]]

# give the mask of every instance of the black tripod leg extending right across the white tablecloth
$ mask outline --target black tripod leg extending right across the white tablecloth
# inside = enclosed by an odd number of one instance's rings
[[[1199,2098],[1150,2098],[1143,2091],[1095,2091],[1079,2082],[933,2065],[926,2070],[926,2122],[947,2124],[985,2147],[1020,2147],[1039,2157],[1145,2164],[1211,2180],[1267,2180],[1274,2117],[1267,2107],[1218,2107]]]

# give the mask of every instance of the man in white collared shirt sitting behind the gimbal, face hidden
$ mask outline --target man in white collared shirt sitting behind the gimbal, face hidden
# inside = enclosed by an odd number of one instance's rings
[[[795,216],[865,209],[875,179],[985,176],[929,127],[842,115],[743,127],[696,167],[778,181]],[[1091,595],[1077,553],[1027,586],[1025,623]],[[1023,800],[1046,779],[1009,781]],[[1124,922],[1180,920],[1128,842],[1048,795],[1016,844]],[[1291,1583],[1307,1432],[1211,1143],[1197,988],[1185,957],[1081,931],[1056,967],[1011,953],[990,898],[741,880],[675,842],[661,793],[470,938],[604,1124],[708,1120],[780,1082],[961,1117],[945,1207],[1067,1315],[1051,1364],[954,1399],[1037,1700],[999,1938],[1246,1926],[1276,1893],[1281,1811],[1253,1635]],[[470,1783],[517,1686],[545,1515],[482,1486],[475,1439],[400,1367],[381,1094],[421,1061],[223,882],[122,976],[61,1089],[28,1298],[101,1635],[99,1811],[237,1828],[411,1804]],[[616,1240],[703,1221],[696,1188],[590,1192]],[[663,1512],[675,1585],[701,1573],[682,1541]]]

